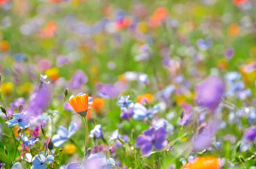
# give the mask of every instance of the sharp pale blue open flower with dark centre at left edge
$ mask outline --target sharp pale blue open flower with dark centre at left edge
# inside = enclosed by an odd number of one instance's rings
[[[12,127],[15,124],[19,124],[20,129],[26,129],[29,126],[29,118],[33,118],[32,116],[26,115],[26,112],[21,112],[19,114],[13,114],[15,118],[12,120],[6,121],[8,127]]]

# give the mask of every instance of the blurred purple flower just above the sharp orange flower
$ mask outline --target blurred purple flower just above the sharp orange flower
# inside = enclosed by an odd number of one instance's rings
[[[71,89],[79,89],[82,85],[87,83],[88,77],[84,74],[82,70],[78,70],[72,76],[70,81],[70,88]]]

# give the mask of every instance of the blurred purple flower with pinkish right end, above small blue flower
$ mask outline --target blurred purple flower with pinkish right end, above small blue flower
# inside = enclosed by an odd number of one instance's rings
[[[123,81],[118,81],[115,84],[102,84],[96,85],[97,94],[105,99],[112,99],[119,96],[127,89],[127,84]]]

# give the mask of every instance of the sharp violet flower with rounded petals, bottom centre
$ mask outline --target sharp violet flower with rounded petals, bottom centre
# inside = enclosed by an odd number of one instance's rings
[[[156,150],[161,150],[168,144],[168,140],[165,138],[168,132],[162,127],[157,130],[154,128],[147,129],[143,134],[137,137],[136,147],[140,147],[144,156],[152,152],[153,146]]]

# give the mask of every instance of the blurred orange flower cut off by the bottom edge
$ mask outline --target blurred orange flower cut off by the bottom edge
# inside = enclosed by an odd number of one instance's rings
[[[187,163],[183,169],[220,169],[218,158],[198,157],[190,163]]]

